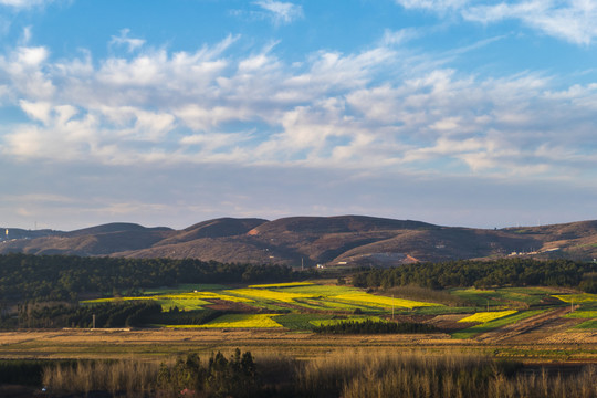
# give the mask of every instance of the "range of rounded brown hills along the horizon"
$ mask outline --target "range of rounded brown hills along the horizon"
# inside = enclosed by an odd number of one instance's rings
[[[8,230],[8,234],[6,233]],[[474,229],[365,216],[220,218],[174,230],[108,223],[63,232],[2,228],[0,253],[195,258],[294,266],[504,256],[597,258],[597,221]]]

